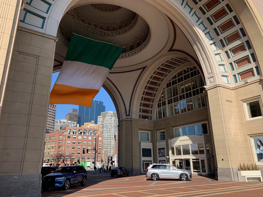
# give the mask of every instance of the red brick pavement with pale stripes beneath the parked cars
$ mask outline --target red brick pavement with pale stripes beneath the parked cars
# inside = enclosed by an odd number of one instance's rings
[[[152,181],[145,175],[110,177],[110,173],[93,174],[88,170],[87,184],[70,185],[69,190],[50,188],[42,197],[246,197],[263,193],[263,182],[217,181],[214,177],[193,176],[183,182],[179,179]]]

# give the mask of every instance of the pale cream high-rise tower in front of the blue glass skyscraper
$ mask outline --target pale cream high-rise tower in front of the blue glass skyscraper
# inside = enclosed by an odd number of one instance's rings
[[[113,111],[102,112],[98,117],[98,125],[100,125],[100,132],[103,134],[104,157],[112,156],[115,146],[114,135],[117,134],[117,113]]]

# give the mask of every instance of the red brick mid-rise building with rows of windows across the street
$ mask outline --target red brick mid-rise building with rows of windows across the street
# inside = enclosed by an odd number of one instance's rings
[[[89,150],[86,151],[87,149]],[[94,149],[97,150],[96,155]],[[45,135],[43,163],[62,166],[80,162],[84,166],[90,166],[96,157],[96,163],[100,166],[102,151],[103,134],[100,134],[99,129],[63,127],[61,132],[57,130]]]

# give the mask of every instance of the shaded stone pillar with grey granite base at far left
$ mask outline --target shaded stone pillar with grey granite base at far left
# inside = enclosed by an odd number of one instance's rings
[[[56,38],[18,28],[0,116],[0,192],[41,196]]]

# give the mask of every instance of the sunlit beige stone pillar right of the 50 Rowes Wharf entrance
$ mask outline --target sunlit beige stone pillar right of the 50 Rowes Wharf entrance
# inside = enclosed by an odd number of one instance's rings
[[[245,160],[234,90],[216,85],[207,89],[213,128],[218,180],[237,181],[237,167]]]

